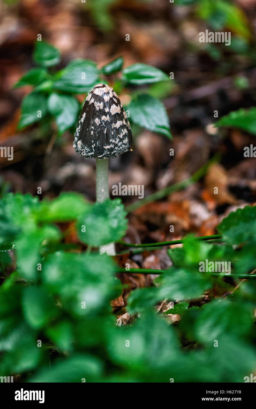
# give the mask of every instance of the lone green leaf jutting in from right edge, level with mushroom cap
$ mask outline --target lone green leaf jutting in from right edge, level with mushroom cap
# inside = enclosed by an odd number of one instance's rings
[[[256,135],[256,107],[239,109],[220,118],[215,126],[234,126]]]

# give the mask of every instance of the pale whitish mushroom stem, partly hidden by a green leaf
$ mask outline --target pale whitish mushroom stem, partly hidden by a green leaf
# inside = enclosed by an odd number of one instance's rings
[[[104,202],[109,199],[108,189],[108,159],[96,159],[96,200]],[[115,256],[115,243],[109,243],[99,248],[100,254]]]

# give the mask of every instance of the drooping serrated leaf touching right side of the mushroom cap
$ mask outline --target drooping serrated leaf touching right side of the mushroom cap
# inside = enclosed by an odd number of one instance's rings
[[[135,124],[172,138],[164,104],[158,99],[148,94],[137,95],[127,110],[130,111],[130,119]]]

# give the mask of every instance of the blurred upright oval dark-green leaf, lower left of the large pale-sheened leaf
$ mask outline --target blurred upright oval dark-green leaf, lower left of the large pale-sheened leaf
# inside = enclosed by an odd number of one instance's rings
[[[23,289],[22,310],[27,323],[35,329],[43,328],[57,315],[53,299],[42,287]]]

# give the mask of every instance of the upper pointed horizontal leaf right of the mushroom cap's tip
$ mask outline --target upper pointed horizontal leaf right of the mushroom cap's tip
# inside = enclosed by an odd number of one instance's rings
[[[150,84],[169,79],[163,71],[151,65],[136,63],[123,70],[122,79],[129,84]]]

